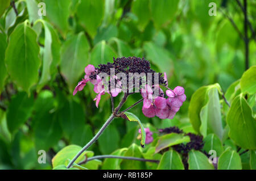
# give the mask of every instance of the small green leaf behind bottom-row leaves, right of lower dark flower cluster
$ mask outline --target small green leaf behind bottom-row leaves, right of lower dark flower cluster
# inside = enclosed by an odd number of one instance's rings
[[[207,137],[204,138],[204,150],[207,151],[207,153],[209,153],[210,150],[215,150],[217,157],[220,157],[224,151],[220,138],[215,134],[208,134]]]

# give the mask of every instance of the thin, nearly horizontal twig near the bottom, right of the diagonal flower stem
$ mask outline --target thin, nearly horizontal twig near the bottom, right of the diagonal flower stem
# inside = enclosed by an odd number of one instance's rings
[[[85,162],[84,161],[80,162],[79,165],[84,164],[84,163],[89,162],[89,161],[92,161],[93,159],[104,159],[104,158],[130,159],[130,160],[141,161],[141,162],[159,163],[159,160],[157,160],[157,159],[144,159],[144,158],[137,158],[137,157],[123,157],[123,156],[117,156],[117,155],[98,155],[98,156],[88,158]]]

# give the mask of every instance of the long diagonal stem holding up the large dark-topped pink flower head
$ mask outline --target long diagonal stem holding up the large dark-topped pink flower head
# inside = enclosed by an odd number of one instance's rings
[[[76,159],[86,150],[90,147],[90,145],[92,145],[97,139],[98,137],[101,136],[102,132],[104,132],[104,130],[106,129],[106,127],[108,127],[108,125],[114,120],[114,115],[112,114],[109,119],[104,123],[104,125],[101,127],[100,131],[98,131],[98,133],[92,138],[92,140],[90,140],[88,142],[88,144],[86,144],[84,146],[84,148],[82,148],[79,153],[76,154],[76,156],[72,159],[71,162],[68,163],[67,168],[69,169],[73,163],[76,161]]]

